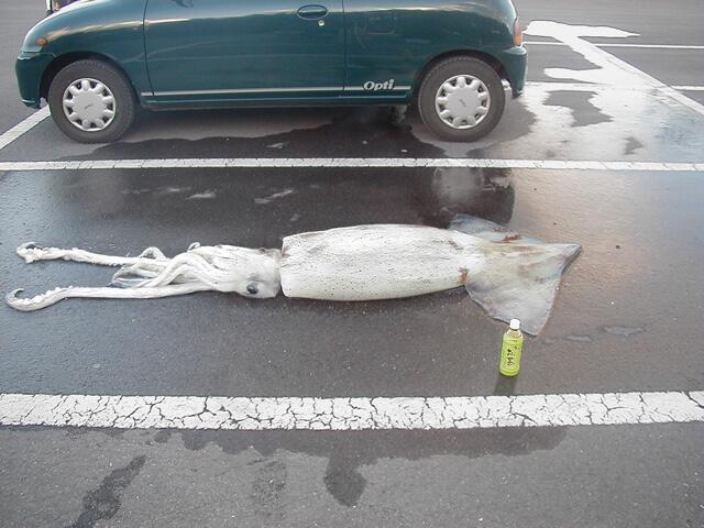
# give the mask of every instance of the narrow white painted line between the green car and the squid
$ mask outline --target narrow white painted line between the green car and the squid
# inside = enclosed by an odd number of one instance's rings
[[[0,172],[94,170],[147,168],[539,168],[572,170],[703,170],[704,161],[679,162],[603,162],[597,160],[494,160],[472,157],[212,157],[164,160],[98,160],[76,162],[0,162]],[[676,167],[676,168],[673,168]]]

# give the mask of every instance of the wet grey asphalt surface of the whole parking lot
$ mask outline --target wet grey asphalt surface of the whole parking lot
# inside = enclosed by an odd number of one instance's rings
[[[525,24],[612,25],[641,33],[634,42],[704,44],[695,1],[516,3]],[[23,30],[15,25],[29,24],[30,8],[12,0],[0,9],[13,28],[2,42],[18,47]],[[702,51],[607,51],[666,82],[704,85]],[[8,72],[13,53],[6,52]],[[530,54],[531,81],[549,80],[548,67],[591,67],[566,47],[535,45]],[[12,76],[0,82],[7,130],[28,112]],[[433,140],[413,109],[400,122],[385,109],[289,109],[146,114],[121,142],[99,146],[70,143],[47,120],[0,151],[0,161],[239,156],[698,163],[704,117],[626,88],[540,85],[510,101],[494,133],[473,145]],[[443,227],[466,212],[583,246],[512,382],[496,373],[504,326],[462,290],[362,304],[205,293],[68,300],[35,314],[0,306],[0,392],[702,389],[701,178],[426,168],[0,174],[3,292],[109,282],[111,271],[99,267],[24,265],[14,248],[28,240],[114,254],[148,245],[175,253],[194,241],[276,248],[296,232],[375,222]],[[0,428],[0,526],[700,527],[703,432],[701,424],[321,433]]]

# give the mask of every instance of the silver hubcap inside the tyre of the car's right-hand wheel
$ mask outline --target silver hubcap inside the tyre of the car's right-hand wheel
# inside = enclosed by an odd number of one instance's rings
[[[436,111],[453,129],[472,129],[484,121],[492,97],[482,80],[471,75],[455,75],[446,80],[436,95]]]

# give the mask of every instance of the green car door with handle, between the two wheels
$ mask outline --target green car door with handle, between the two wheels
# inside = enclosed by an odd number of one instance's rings
[[[148,0],[146,62],[156,101],[337,97],[342,0]]]

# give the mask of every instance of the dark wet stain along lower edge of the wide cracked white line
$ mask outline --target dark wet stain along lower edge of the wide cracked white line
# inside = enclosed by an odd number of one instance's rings
[[[356,505],[366,487],[364,468],[384,459],[424,460],[440,455],[468,459],[502,454],[518,457],[534,451],[554,449],[566,436],[566,428],[509,428],[472,431],[158,431],[155,441],[166,443],[177,433],[187,449],[201,450],[215,443],[228,454],[254,450],[251,464],[275,473],[279,482],[285,472],[280,451],[328,459],[322,480],[338,503]],[[254,454],[254,453],[253,453]],[[271,471],[270,471],[271,470]],[[271,476],[271,475],[270,475]],[[275,492],[262,490],[261,477],[253,482],[253,493],[266,496]],[[275,487],[277,487],[275,486]]]

